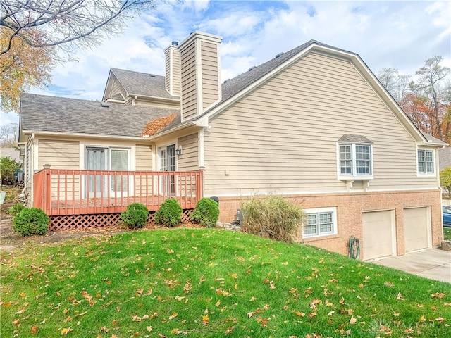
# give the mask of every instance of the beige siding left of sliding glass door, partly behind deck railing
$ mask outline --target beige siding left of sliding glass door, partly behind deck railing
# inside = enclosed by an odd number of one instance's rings
[[[49,164],[51,169],[80,169],[80,142],[78,141],[63,141],[53,139],[39,139],[39,160],[38,168],[44,168],[45,164]],[[67,187],[67,189],[66,189]],[[73,191],[72,187],[75,187]],[[67,194],[67,195],[66,195]],[[58,200],[58,196],[67,196],[70,200],[74,196],[75,199],[80,198],[80,176],[79,175],[61,175],[58,178],[52,175],[51,178],[51,198]]]

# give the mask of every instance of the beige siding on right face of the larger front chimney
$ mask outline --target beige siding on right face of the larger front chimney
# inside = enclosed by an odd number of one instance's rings
[[[202,97],[207,108],[218,100],[218,47],[211,42],[202,42]]]

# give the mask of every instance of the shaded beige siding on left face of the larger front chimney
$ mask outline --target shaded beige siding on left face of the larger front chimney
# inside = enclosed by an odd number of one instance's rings
[[[184,49],[180,58],[182,62],[182,118],[187,119],[197,113],[197,94],[196,94],[196,44],[192,42],[190,46]]]

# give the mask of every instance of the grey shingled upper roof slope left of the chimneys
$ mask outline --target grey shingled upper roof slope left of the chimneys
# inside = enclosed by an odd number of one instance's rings
[[[111,68],[111,74],[121,82],[128,95],[151,96],[163,99],[180,100],[166,90],[165,77],[161,75],[133,72],[131,70]]]

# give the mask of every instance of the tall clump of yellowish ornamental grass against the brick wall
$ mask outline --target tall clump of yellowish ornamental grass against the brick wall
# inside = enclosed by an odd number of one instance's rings
[[[281,196],[253,197],[242,203],[242,232],[282,242],[294,242],[302,232],[302,207]]]

